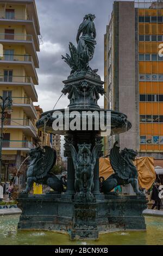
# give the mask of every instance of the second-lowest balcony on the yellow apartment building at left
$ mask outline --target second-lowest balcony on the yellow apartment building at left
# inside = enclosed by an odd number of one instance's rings
[[[4,129],[21,129],[26,135],[33,138],[37,137],[36,128],[29,119],[5,119]]]

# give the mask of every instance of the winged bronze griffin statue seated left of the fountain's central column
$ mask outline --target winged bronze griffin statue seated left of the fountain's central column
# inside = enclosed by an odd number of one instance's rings
[[[64,181],[59,180],[52,173],[52,168],[57,160],[56,151],[50,147],[31,149],[29,151],[29,166],[27,169],[27,187],[22,193],[29,193],[34,182],[45,184],[54,191],[64,191]]]

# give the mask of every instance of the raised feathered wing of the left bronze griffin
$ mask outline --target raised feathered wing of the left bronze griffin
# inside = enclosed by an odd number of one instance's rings
[[[37,178],[42,179],[47,176],[47,173],[53,168],[56,160],[57,154],[56,151],[50,147],[43,147],[45,153],[42,156],[41,161],[39,161]]]

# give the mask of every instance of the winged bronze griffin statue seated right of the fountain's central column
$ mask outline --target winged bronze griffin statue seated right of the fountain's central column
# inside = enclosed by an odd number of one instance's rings
[[[118,185],[131,184],[137,195],[143,194],[138,187],[137,169],[133,163],[136,155],[137,153],[133,149],[125,148],[120,152],[117,142],[114,144],[114,147],[110,150],[110,164],[115,173],[105,181],[103,177],[99,178],[100,181],[102,179],[101,192],[109,193]]]

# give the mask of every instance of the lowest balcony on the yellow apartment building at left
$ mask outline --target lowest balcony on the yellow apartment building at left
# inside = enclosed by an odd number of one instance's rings
[[[29,141],[3,141],[2,142],[2,150],[21,150],[21,151],[29,151],[30,149],[34,149],[35,145]]]

